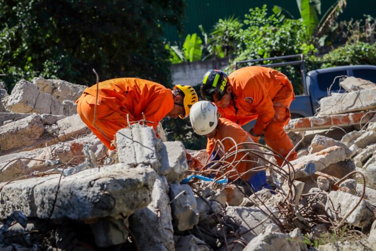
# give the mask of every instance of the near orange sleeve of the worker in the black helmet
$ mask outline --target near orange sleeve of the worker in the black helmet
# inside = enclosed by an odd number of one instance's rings
[[[256,135],[261,135],[265,127],[273,120],[274,108],[273,101],[269,98],[268,92],[263,83],[250,79],[247,83],[247,88],[244,90],[244,98],[252,97],[253,108],[258,113],[256,125],[252,132]],[[239,107],[240,109],[241,107]]]

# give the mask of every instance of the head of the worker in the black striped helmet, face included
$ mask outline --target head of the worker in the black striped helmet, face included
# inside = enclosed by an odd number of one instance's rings
[[[232,88],[227,75],[219,70],[209,70],[201,82],[201,96],[216,106],[225,108],[230,104]]]

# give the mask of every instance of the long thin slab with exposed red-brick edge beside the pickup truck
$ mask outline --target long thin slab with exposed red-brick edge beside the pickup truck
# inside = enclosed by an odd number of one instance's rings
[[[306,117],[290,120],[285,130],[306,131],[329,129],[332,126],[348,127],[359,125],[359,122],[367,123],[373,117],[373,114],[366,112],[355,112],[337,115],[320,115],[315,117]]]

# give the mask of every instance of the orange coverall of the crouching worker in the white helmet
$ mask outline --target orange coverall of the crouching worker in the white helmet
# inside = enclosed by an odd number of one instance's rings
[[[248,132],[246,132],[241,126],[235,124],[234,122],[225,119],[225,118],[219,118],[218,119],[218,126],[217,126],[217,132],[213,138],[208,138],[208,144],[206,145],[206,151],[208,152],[209,158],[211,157],[210,154],[213,151],[215,141],[221,141],[226,137],[232,137],[236,144],[244,143],[244,142],[253,142],[251,136],[249,135]],[[225,152],[229,151],[232,147],[234,147],[234,142],[230,139],[226,139],[222,142],[224,149],[219,147],[218,144],[215,147],[215,151],[223,149]],[[238,149],[258,149],[257,146],[252,146],[252,145],[241,145]],[[235,148],[233,148],[235,150]],[[232,151],[233,151],[232,150]],[[223,156],[223,152],[218,153],[220,157]],[[244,152],[239,152],[236,156],[235,161],[240,160],[244,156]],[[226,158],[225,161],[232,162],[234,160],[235,156]],[[250,159],[250,158],[246,158]],[[257,159],[253,159],[256,160]],[[235,163],[234,163],[235,164]],[[248,162],[241,162],[236,166],[237,172],[239,174],[244,174],[246,171],[248,171],[250,168],[252,168],[252,165]],[[225,172],[229,172],[232,170],[232,167],[229,167]],[[242,178],[244,180],[248,180],[251,176],[253,176],[255,173],[253,172],[248,172],[244,175],[242,175]],[[230,172],[228,177],[232,177],[235,179],[238,177],[238,174],[235,171]]]

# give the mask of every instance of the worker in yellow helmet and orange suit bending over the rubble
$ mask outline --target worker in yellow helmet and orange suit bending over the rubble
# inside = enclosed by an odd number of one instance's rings
[[[176,85],[170,90],[140,78],[116,78],[86,88],[76,103],[82,121],[108,149],[114,150],[114,136],[119,129],[128,126],[127,118],[129,122],[145,118],[156,130],[164,117],[188,116],[196,101],[197,94],[188,85]]]

